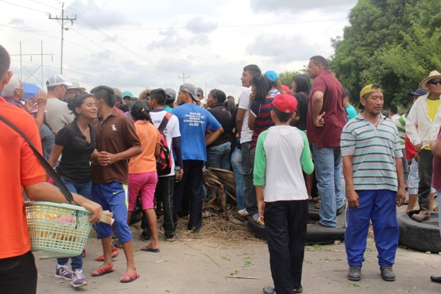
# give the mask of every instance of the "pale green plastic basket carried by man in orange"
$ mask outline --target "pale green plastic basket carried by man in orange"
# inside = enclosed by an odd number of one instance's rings
[[[71,204],[25,202],[32,251],[39,258],[69,258],[83,252],[92,213]]]

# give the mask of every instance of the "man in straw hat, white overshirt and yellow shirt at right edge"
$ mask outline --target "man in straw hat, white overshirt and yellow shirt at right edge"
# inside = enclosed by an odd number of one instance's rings
[[[432,181],[433,155],[430,141],[435,140],[441,126],[441,74],[433,70],[420,83],[420,89],[428,91],[413,103],[407,116],[406,134],[415,146],[418,156],[418,204],[420,212],[411,218],[417,222],[429,220],[429,193]],[[418,127],[417,127],[418,126]]]

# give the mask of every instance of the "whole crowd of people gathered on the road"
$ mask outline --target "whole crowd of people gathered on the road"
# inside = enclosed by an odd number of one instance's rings
[[[129,227],[138,201],[145,216],[139,238],[147,241],[141,251],[160,252],[159,216],[166,242],[180,238],[176,224],[183,216],[189,216],[190,233],[200,231],[203,202],[209,198],[203,171],[209,167],[234,172],[236,206],[230,201],[229,207],[265,226],[274,287],[265,287],[264,293],[302,292],[309,201],[320,198],[320,227],[336,228],[338,216],[346,213],[351,281],[361,279],[370,222],[381,277],[396,280],[396,207],[406,201],[406,189],[409,211],[418,201],[420,210],[412,215],[418,222],[429,218],[435,193],[440,202],[441,74],[436,71],[409,93],[409,111],[400,115],[391,107],[385,116],[381,85],[362,88],[358,113],[349,90],[322,56],[312,56],[307,74],[295,75],[291,85],[282,85],[273,70],[246,65],[238,101],[218,89],[205,99],[203,90],[189,83],[177,94],[157,88],[134,97],[105,85],[88,93],[60,74],[46,81],[47,94],[41,91],[23,101],[20,78],[9,65],[9,54],[0,46],[0,115],[41,150],[74,202],[92,211],[91,222],[103,210],[113,212],[113,227],[94,225],[103,246],[96,260],[103,263],[91,272],[93,277],[114,271],[118,248],[126,258],[120,281],[139,277]],[[67,200],[47,182],[23,138],[3,123],[0,129],[1,157],[8,160],[0,170],[0,189],[11,196],[2,200],[0,220],[13,222],[2,226],[0,234],[14,240],[0,253],[0,285],[6,293],[34,293],[37,269],[21,187],[31,200]],[[11,143],[19,148],[12,149]],[[160,166],[161,156],[165,165]],[[118,240],[112,242],[114,233]],[[72,257],[70,266],[67,258],[59,258],[56,277],[74,287],[87,285],[82,258]],[[11,269],[3,275],[1,269],[8,265]],[[441,277],[432,280],[441,282]]]

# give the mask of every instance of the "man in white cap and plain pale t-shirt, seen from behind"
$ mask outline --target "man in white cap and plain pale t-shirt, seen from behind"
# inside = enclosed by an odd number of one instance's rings
[[[46,81],[48,87],[48,103],[46,103],[45,109],[46,119],[54,134],[57,134],[60,129],[74,120],[74,115],[68,109],[68,103],[61,101],[70,85],[72,83],[66,81],[61,74],[54,74]]]

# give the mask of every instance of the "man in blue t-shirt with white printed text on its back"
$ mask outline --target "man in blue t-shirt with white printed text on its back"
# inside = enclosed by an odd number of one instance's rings
[[[176,227],[177,213],[181,209],[184,190],[187,186],[190,192],[190,217],[187,227],[192,232],[198,231],[202,226],[202,168],[204,162],[207,161],[206,146],[212,144],[223,132],[223,128],[216,118],[207,109],[196,105],[195,102],[199,102],[196,87],[185,83],[179,87],[179,106],[172,110],[172,114],[177,116],[179,120],[184,165],[183,178],[176,182],[174,187],[173,220]],[[206,136],[207,129],[210,134]]]

